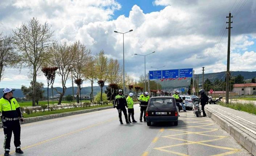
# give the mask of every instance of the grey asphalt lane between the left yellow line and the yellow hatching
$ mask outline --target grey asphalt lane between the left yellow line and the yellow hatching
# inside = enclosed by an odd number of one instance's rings
[[[138,106],[135,109],[139,109]],[[139,118],[139,111],[136,116]],[[118,116],[118,113],[113,114]],[[124,118],[124,117],[123,117]],[[93,125],[92,125],[93,126]],[[24,148],[26,155],[141,155],[159,130],[146,122],[120,125],[118,118],[35,146]],[[152,135],[153,134],[153,135]]]

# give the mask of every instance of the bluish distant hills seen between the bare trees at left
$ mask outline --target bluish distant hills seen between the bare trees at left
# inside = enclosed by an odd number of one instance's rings
[[[103,92],[104,90],[106,90],[107,86],[103,87]],[[62,88],[61,87],[56,87],[57,90],[59,90],[60,92],[62,92]],[[4,88],[0,88],[0,90],[3,90]],[[47,88],[44,88],[43,90],[45,90],[44,96],[47,97]],[[100,92],[100,87],[99,86],[94,86],[93,87],[93,93],[94,95],[96,95],[98,92]],[[77,93],[77,87],[74,87],[74,94]],[[81,90],[81,94],[83,95],[87,95],[90,96],[91,93],[91,87],[83,87]],[[53,94],[58,94],[54,89],[53,89]],[[66,92],[65,92],[65,96],[66,95],[72,95],[73,91],[72,91],[72,87],[67,88]],[[14,92],[14,97],[25,97],[23,92],[21,91],[21,89],[15,89]],[[51,89],[49,88],[49,96],[51,96]]]

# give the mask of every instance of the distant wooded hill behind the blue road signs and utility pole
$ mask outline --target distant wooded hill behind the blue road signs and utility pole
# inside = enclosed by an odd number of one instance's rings
[[[231,76],[237,76],[241,74],[244,76],[244,80],[252,79],[253,77],[256,77],[256,71],[254,72],[247,72],[247,71],[232,71]],[[199,76],[199,84],[202,84],[203,74],[197,74]],[[226,71],[224,72],[218,72],[218,73],[206,73],[204,76],[204,79],[207,78],[210,81],[214,81],[216,79],[222,79],[225,80],[226,77]],[[169,88],[179,88],[179,87],[189,87],[191,78],[187,78],[186,80],[167,80],[167,81],[160,81],[160,84],[162,85],[162,89],[169,89]]]

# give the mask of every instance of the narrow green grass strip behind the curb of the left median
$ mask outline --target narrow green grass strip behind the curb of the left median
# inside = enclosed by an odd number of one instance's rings
[[[67,108],[67,109],[55,110],[55,111],[45,110],[45,112],[37,112],[37,113],[33,113],[33,114],[23,113],[23,116],[24,116],[24,118],[31,118],[31,117],[39,117],[39,116],[43,116],[43,115],[67,113],[67,112],[71,112],[71,111],[78,111],[78,110],[85,110],[85,109],[92,109],[92,108],[99,108],[99,107],[107,107],[107,106],[113,106],[113,105],[111,104],[111,105],[90,106],[90,107],[82,107],[82,108]]]

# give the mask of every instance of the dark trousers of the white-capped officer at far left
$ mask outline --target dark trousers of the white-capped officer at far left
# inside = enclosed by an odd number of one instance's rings
[[[14,145],[15,147],[20,146],[20,121],[5,121],[3,122],[3,128],[4,128],[4,148],[10,149],[11,144],[11,138],[12,138],[12,132],[14,135]]]

